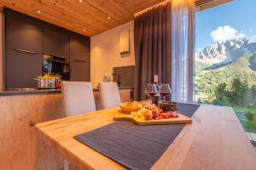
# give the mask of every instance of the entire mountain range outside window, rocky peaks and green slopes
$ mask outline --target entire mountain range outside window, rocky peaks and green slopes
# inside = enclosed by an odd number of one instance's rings
[[[214,42],[195,54],[195,96],[212,96],[220,83],[230,88],[234,78],[256,85],[256,42],[233,39]]]

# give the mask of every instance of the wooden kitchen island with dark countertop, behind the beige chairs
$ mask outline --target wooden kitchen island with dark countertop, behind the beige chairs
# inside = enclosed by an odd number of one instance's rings
[[[131,100],[133,88],[119,89],[121,100]],[[96,105],[98,89],[94,89]],[[1,169],[61,169],[63,160],[46,141],[38,139],[34,125],[64,117],[61,90],[36,88],[0,91]],[[12,150],[12,151],[9,151]]]

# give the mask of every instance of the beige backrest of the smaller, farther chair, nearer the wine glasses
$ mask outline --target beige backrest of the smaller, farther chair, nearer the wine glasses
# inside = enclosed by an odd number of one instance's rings
[[[119,87],[116,82],[100,82],[102,109],[108,109],[121,103]]]

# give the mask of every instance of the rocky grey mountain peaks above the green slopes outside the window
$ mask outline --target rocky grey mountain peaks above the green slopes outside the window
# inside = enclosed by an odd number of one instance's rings
[[[233,39],[214,42],[195,54],[195,59],[207,65],[223,65],[254,52],[256,52],[256,42],[250,42],[248,39]]]

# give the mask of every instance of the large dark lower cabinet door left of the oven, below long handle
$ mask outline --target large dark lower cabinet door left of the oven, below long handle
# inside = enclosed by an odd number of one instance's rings
[[[7,49],[6,88],[36,88],[42,74],[42,54]]]

